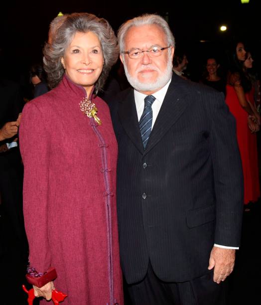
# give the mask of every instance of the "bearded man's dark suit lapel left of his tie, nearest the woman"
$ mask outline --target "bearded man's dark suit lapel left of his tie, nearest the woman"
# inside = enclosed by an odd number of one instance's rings
[[[130,137],[130,140],[133,142],[138,151],[143,154],[144,148],[138,126],[138,117],[133,89],[130,90],[130,93],[126,96],[124,101],[120,103],[118,114],[127,135]]]

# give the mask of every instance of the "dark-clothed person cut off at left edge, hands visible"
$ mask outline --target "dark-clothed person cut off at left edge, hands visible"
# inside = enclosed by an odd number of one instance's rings
[[[6,58],[0,49],[0,63]],[[7,79],[3,71],[0,70],[0,303],[20,305],[26,304],[21,285],[28,262],[22,213],[23,167],[17,134],[23,100],[20,86]]]

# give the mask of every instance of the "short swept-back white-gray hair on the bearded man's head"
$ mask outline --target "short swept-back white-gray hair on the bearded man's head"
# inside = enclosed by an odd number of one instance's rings
[[[168,23],[159,15],[156,14],[143,14],[141,16],[135,17],[123,23],[118,30],[118,42],[120,46],[120,53],[126,51],[125,50],[125,37],[128,30],[132,26],[140,26],[147,24],[156,24],[162,28],[164,33],[166,34],[168,45],[175,46],[174,36],[168,26]],[[171,52],[171,50],[169,49]]]

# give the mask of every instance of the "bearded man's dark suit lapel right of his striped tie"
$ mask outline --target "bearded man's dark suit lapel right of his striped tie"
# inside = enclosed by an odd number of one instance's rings
[[[152,128],[144,154],[149,152],[174,125],[189,105],[187,81],[174,73],[164,101],[161,105],[155,124]]]

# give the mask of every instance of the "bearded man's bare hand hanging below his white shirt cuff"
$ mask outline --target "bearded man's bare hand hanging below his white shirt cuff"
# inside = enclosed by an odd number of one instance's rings
[[[224,249],[219,247],[213,247],[210,253],[208,269],[214,268],[214,282],[219,284],[232,273],[235,265],[235,249]]]

